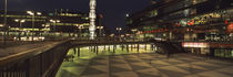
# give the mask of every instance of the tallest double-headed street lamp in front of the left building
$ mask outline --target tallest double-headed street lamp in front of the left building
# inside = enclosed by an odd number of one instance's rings
[[[41,15],[41,12],[33,12],[33,11],[27,11],[28,14],[32,15],[32,31],[34,31],[34,16],[37,15]],[[34,41],[34,34],[32,32],[32,41]]]

